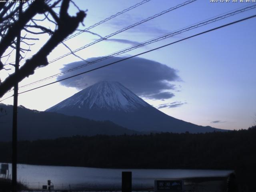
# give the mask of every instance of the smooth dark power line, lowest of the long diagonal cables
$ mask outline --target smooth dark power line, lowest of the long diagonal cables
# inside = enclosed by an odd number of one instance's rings
[[[116,62],[112,62],[112,63],[109,63],[109,64],[106,64],[106,65],[103,65],[103,66],[100,66],[100,67],[97,67],[97,68],[94,68],[94,69],[91,69],[91,70],[88,70],[88,71],[85,71],[85,72],[76,74],[76,75],[73,75],[73,76],[70,76],[70,77],[61,79],[61,80],[57,80],[57,81],[55,81],[55,82],[51,82],[51,83],[48,83],[48,84],[45,84],[45,85],[42,85],[42,86],[39,86],[39,87],[30,89],[30,90],[26,90],[26,91],[24,91],[24,92],[20,92],[19,94],[26,93],[26,92],[29,92],[29,91],[32,91],[32,90],[36,90],[36,89],[38,89],[38,88],[42,88],[42,87],[45,87],[45,86],[48,86],[48,85],[51,85],[51,84],[54,84],[54,83],[57,83],[57,82],[61,82],[61,81],[63,81],[63,80],[67,80],[67,79],[70,79],[70,78],[73,78],[73,77],[76,77],[76,76],[79,76],[79,75],[82,75],[82,74],[86,74],[86,73],[88,73],[88,72],[92,72],[92,71],[94,71],[94,70],[98,70],[98,69],[100,69],[100,68],[104,68],[104,67],[106,67],[106,66],[110,66],[110,65],[112,65],[112,64],[116,64],[116,63],[118,63],[118,62],[122,62],[122,61],[124,61],[124,60],[128,60],[128,59],[130,59],[130,58],[134,58],[134,57],[136,57],[136,56],[140,56],[140,55],[142,55],[142,54],[145,54],[145,53],[148,53],[148,52],[152,52],[152,51],[154,51],[154,50],[158,50],[158,49],[160,49],[160,48],[164,48],[164,47],[166,47],[166,46],[170,46],[170,45],[172,45],[172,44],[175,44],[175,43],[178,43],[178,42],[187,40],[187,39],[189,39],[189,38],[192,38],[192,37],[195,37],[195,36],[199,36],[199,35],[202,35],[202,34],[205,34],[205,33],[208,33],[208,32],[211,32],[211,31],[214,31],[214,30],[217,30],[217,29],[226,27],[226,26],[230,26],[230,25],[232,25],[232,24],[235,24],[235,23],[238,23],[238,22],[242,22],[242,21],[244,21],[244,20],[248,20],[248,19],[254,18],[254,17],[256,17],[256,15],[249,16],[249,17],[246,17],[246,18],[243,18],[243,19],[240,19],[240,20],[236,20],[236,21],[234,21],[234,22],[231,22],[231,23],[228,23],[228,24],[225,24],[225,25],[222,25],[222,26],[218,26],[218,27],[212,28],[212,29],[210,29],[210,30],[206,30],[206,31],[204,31],[204,32],[200,32],[200,33],[198,33],[198,34],[189,36],[189,37],[187,37],[187,38],[183,38],[183,39],[181,39],[181,40],[178,40],[178,41],[175,41],[175,42],[166,44],[166,45],[164,45],[164,46],[160,46],[160,47],[157,47],[157,48],[154,48],[154,49],[151,49],[151,50],[142,52],[142,53],[140,53],[140,54],[136,54],[136,55],[134,55],[134,56],[130,56],[130,57],[127,57],[127,58],[123,58],[123,59],[121,59],[121,60],[119,60],[119,61],[116,61]]]

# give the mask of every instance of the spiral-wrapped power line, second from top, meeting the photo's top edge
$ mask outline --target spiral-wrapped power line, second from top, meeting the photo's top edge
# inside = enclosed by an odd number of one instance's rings
[[[144,20],[141,20],[140,22],[137,22],[137,23],[135,23],[135,24],[132,24],[132,25],[126,27],[126,28],[123,28],[123,29],[121,29],[121,30],[118,30],[118,31],[116,31],[116,32],[114,32],[114,33],[112,33],[112,34],[109,34],[109,35],[107,35],[107,36],[105,36],[105,37],[103,37],[103,38],[100,38],[100,39],[98,39],[98,40],[95,40],[94,42],[91,42],[91,43],[89,43],[89,44],[86,44],[86,45],[84,45],[84,46],[82,46],[82,47],[80,47],[80,48],[78,48],[78,49],[76,49],[76,50],[74,50],[74,51],[72,51],[72,52],[69,52],[69,53],[67,53],[67,54],[64,54],[64,55],[58,57],[58,58],[55,58],[54,60],[49,61],[48,64],[50,64],[50,63],[52,63],[52,62],[55,62],[55,61],[57,61],[57,60],[59,60],[59,59],[61,59],[61,58],[64,58],[64,57],[66,57],[66,56],[68,56],[68,55],[70,55],[70,54],[72,54],[72,53],[78,52],[78,51],[80,51],[80,50],[82,50],[82,49],[84,49],[84,48],[87,48],[87,47],[89,47],[89,46],[91,46],[91,45],[93,45],[93,44],[96,44],[96,43],[98,43],[98,42],[101,42],[101,41],[103,41],[103,40],[106,40],[107,38],[110,38],[110,37],[112,37],[112,36],[114,36],[114,35],[116,35],[116,34],[119,34],[119,33],[121,33],[121,32],[124,32],[124,31],[126,31],[126,30],[128,30],[128,29],[130,29],[130,28],[133,28],[133,27],[135,27],[135,26],[137,26],[137,25],[140,25],[140,24],[142,24],[142,23],[144,23],[144,22],[147,22],[147,21],[149,21],[149,20],[152,20],[152,19],[154,19],[154,18],[156,18],[156,17],[158,17],[158,16],[161,16],[161,15],[163,15],[163,14],[166,14],[166,13],[172,11],[172,10],[175,10],[175,9],[177,9],[177,8],[180,8],[180,7],[182,7],[182,6],[185,6],[185,5],[187,5],[187,4],[190,4],[190,3],[194,2],[194,1],[196,1],[196,0],[189,0],[189,1],[186,1],[186,2],[184,2],[184,3],[182,3],[182,4],[178,4],[177,6],[174,6],[174,7],[172,7],[172,8],[167,9],[167,10],[164,10],[164,11],[158,13],[158,14],[155,14],[155,15],[153,15],[153,16],[150,16],[150,17],[148,17],[148,18],[146,18],[146,19],[144,19]]]

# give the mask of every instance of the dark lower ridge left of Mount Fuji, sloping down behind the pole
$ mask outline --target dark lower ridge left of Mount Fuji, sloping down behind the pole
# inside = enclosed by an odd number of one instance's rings
[[[12,140],[12,105],[0,104],[6,114],[0,118],[0,141]],[[70,136],[140,134],[110,121],[89,120],[55,112],[18,107],[18,140],[55,139]]]

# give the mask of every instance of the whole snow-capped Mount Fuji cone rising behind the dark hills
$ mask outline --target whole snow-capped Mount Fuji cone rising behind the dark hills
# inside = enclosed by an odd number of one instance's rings
[[[98,82],[52,106],[47,112],[110,120],[140,132],[213,132],[221,129],[198,126],[164,114],[119,82]]]

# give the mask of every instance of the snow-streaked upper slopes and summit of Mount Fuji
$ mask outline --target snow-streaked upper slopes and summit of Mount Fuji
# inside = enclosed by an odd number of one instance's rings
[[[131,112],[142,106],[150,105],[119,82],[102,81],[74,94],[46,111],[78,107]]]

